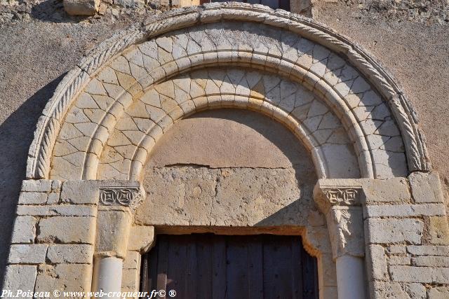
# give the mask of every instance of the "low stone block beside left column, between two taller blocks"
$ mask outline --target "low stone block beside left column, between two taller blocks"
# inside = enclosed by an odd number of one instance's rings
[[[47,259],[51,263],[83,263],[91,264],[93,259],[93,245],[67,244],[50,245],[48,247]]]

